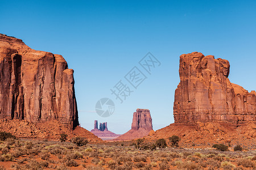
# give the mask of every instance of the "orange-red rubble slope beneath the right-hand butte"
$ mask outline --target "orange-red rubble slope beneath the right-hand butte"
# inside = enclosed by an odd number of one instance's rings
[[[256,124],[248,123],[239,126],[220,122],[196,122],[195,125],[170,124],[155,133],[144,137],[147,141],[168,138],[177,135],[181,138],[180,147],[212,148],[214,144],[224,143],[232,147],[241,145],[255,150]]]

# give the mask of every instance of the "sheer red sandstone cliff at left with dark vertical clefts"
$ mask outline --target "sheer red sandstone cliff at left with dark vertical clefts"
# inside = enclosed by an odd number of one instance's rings
[[[73,70],[65,59],[0,34],[0,118],[79,125]]]

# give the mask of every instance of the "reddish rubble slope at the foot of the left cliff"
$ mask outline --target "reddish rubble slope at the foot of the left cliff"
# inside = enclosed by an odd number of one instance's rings
[[[75,130],[69,130],[57,120],[47,122],[28,122],[24,120],[0,119],[0,131],[9,132],[19,138],[36,138],[59,141],[60,134],[68,135],[71,140],[75,136],[85,137],[89,142],[102,142],[96,135],[77,126]]]

